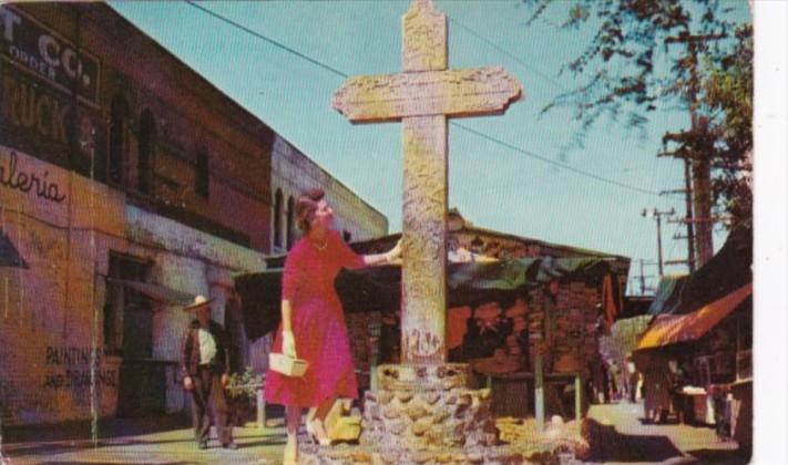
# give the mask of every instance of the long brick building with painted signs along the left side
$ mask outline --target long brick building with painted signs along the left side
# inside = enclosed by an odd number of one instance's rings
[[[185,409],[197,293],[248,359],[233,277],[272,250],[274,151],[308,164],[110,7],[0,6],[4,424]]]

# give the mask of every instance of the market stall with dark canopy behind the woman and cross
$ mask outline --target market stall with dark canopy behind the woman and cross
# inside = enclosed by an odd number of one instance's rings
[[[497,405],[521,405],[501,413],[579,417],[587,368],[598,358],[597,337],[612,323],[621,301],[610,261],[546,257],[451,264],[450,361],[470,363],[480,383],[493,388]],[[249,339],[265,335],[279,322],[280,273],[275,269],[236,278]],[[366,378],[371,368],[397,362],[399,355],[400,269],[344,270],[335,286],[360,385],[371,388],[375,380]],[[516,402],[510,403],[512,399]]]

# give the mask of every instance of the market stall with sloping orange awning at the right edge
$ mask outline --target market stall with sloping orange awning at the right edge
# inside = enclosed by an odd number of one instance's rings
[[[751,443],[750,264],[751,231],[733,231],[641,338],[635,360],[644,372],[647,418],[672,414]]]

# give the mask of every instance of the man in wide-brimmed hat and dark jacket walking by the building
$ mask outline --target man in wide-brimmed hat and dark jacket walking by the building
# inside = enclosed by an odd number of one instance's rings
[[[211,319],[212,301],[197,296],[194,303],[184,308],[184,311],[195,313],[195,320],[188,326],[183,343],[183,386],[192,393],[192,424],[197,446],[208,448],[213,416],[222,447],[236,450],[224,393],[229,382],[227,335],[224,328]]]

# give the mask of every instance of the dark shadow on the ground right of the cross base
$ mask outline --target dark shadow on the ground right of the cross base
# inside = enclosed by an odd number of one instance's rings
[[[615,426],[586,420],[589,462],[663,462],[683,456],[667,436],[621,434]]]

